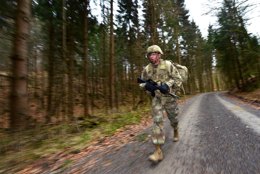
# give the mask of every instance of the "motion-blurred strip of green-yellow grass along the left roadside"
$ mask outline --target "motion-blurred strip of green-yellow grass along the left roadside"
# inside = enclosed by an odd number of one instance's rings
[[[66,150],[77,154],[93,142],[116,133],[126,125],[139,124],[151,112],[150,106],[135,111],[119,108],[118,113],[105,114],[102,110],[92,113],[95,117],[79,120],[73,124],[38,125],[25,131],[12,132],[0,130],[0,171],[5,173],[10,168],[20,171],[36,160]],[[144,117],[144,118],[143,118]],[[145,141],[147,135],[139,135]],[[73,161],[64,162],[61,168]]]

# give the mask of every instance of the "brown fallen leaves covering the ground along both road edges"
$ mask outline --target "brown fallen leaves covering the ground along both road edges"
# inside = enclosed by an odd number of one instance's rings
[[[186,98],[186,101],[191,97],[194,97],[199,94],[194,94]],[[230,90],[228,93],[224,93],[224,96],[234,100],[238,103],[248,105],[254,109],[260,110],[260,89],[251,91],[251,92],[240,92],[236,88]],[[184,104],[184,100],[179,100],[179,106]],[[164,115],[166,117],[166,115]],[[94,140],[94,142],[89,142],[87,148],[68,150],[66,148],[60,148],[59,150],[51,153],[43,154],[44,152],[37,152],[34,150],[33,155],[24,155],[7,160],[8,158],[13,158],[15,156],[6,157],[4,154],[0,156],[5,156],[1,158],[0,166],[5,166],[0,168],[0,173],[11,174],[11,173],[53,173],[54,171],[66,170],[67,167],[75,167],[75,173],[80,173],[81,170],[86,170],[86,167],[91,167],[93,164],[102,163],[102,161],[95,160],[95,151],[100,152],[103,150],[103,153],[107,152],[107,149],[117,149],[121,146],[124,146],[126,143],[132,143],[134,141],[148,141],[150,142],[149,134],[142,134],[144,130],[150,129],[152,125],[152,116],[147,111],[147,116],[141,118],[139,124],[134,125],[125,125],[116,130],[111,136],[100,136],[99,139]],[[22,150],[21,150],[22,151]],[[91,153],[90,153],[91,152]],[[26,152],[24,151],[24,154]],[[30,154],[32,154],[30,152]],[[77,161],[87,157],[88,155],[93,155],[93,160],[89,160],[84,163],[84,166],[77,168],[72,161]],[[96,154],[97,155],[97,154]],[[132,154],[131,156],[133,156]],[[39,156],[39,158],[35,158]],[[131,157],[130,156],[130,157]],[[102,164],[100,164],[102,166]]]

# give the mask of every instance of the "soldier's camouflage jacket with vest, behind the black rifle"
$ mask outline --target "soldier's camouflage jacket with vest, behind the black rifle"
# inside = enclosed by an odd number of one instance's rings
[[[161,83],[166,83],[171,93],[177,93],[179,91],[179,87],[181,86],[181,76],[178,70],[172,65],[170,61],[166,61],[160,59],[160,63],[158,64],[158,68],[154,68],[152,63],[148,64],[141,74],[141,78],[144,80],[152,79],[157,82],[160,86]],[[146,83],[141,83],[139,85],[140,89],[145,91]],[[145,91],[148,95],[151,95],[151,92]],[[159,90],[155,91],[155,97],[165,96],[161,94]],[[166,94],[168,96],[168,94]]]

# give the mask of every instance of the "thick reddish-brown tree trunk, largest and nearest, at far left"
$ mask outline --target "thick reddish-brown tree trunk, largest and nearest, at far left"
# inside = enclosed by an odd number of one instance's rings
[[[28,127],[27,105],[27,56],[29,38],[30,1],[17,0],[16,26],[14,38],[13,80],[11,92],[11,128]]]

